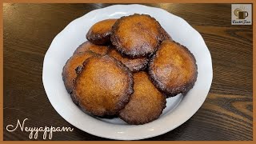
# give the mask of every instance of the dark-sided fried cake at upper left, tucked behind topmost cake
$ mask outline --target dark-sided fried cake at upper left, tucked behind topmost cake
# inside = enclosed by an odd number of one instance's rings
[[[110,34],[112,26],[117,19],[106,19],[95,23],[90,27],[86,34],[86,38],[97,45],[105,45],[110,43]]]

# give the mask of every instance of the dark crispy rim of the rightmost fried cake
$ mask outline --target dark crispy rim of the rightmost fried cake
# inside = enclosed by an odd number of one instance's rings
[[[172,41],[174,42],[174,41]],[[170,97],[174,97],[177,94],[186,94],[190,89],[192,89],[194,87],[194,83],[196,82],[197,78],[198,78],[198,65],[196,63],[196,59],[194,58],[194,54],[192,54],[190,52],[190,50],[188,50],[186,48],[186,46],[181,45],[178,42],[174,42],[175,44],[177,44],[178,46],[181,46],[182,48],[184,48],[184,50],[186,50],[187,53],[189,53],[194,61],[195,67],[196,67],[196,74],[194,74],[194,78],[191,80],[191,82],[188,82],[186,85],[184,86],[179,86],[177,88],[174,88],[172,90],[169,90],[168,88],[165,88],[165,86],[163,86],[163,84],[161,82],[158,81],[158,78],[156,78],[155,74],[152,73],[152,68],[151,65],[154,62],[154,58],[156,57],[156,54],[154,54],[151,58],[150,58],[150,62],[149,62],[149,70],[148,70],[148,74],[150,75],[150,79],[151,81],[154,83],[154,86],[156,86],[159,90],[161,90],[165,95],[166,98],[170,98]],[[161,46],[159,46],[159,49],[161,49]]]

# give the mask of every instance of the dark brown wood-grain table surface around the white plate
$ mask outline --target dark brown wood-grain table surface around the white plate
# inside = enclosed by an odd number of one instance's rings
[[[110,4],[4,4],[4,140],[30,140],[6,126],[71,126],[50,105],[42,85],[42,63],[64,27]],[[206,102],[182,126],[146,140],[252,140],[252,26],[230,25],[230,4],[147,4],[184,18],[202,34],[214,78]],[[73,127],[73,126],[71,126]],[[42,133],[38,139],[42,140]],[[74,128],[52,140],[108,140]]]

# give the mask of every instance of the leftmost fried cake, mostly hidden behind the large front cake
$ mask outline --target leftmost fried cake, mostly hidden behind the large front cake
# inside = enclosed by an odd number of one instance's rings
[[[77,77],[75,69],[78,66],[82,66],[82,62],[94,55],[96,55],[94,52],[86,51],[84,53],[74,54],[69,60],[67,60],[66,65],[62,70],[62,79],[68,93],[71,93],[73,80]]]

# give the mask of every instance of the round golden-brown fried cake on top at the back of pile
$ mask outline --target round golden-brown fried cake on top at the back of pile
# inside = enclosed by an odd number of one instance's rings
[[[112,27],[110,40],[117,50],[132,58],[141,58],[158,49],[162,27],[147,14],[119,18]]]

